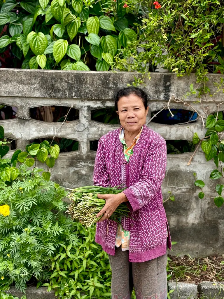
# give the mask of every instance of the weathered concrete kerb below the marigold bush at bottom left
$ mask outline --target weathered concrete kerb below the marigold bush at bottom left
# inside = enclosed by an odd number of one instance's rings
[[[4,291],[7,294],[13,295],[15,297],[21,298],[24,294],[15,288],[11,287],[8,291]],[[47,292],[47,287],[41,286],[36,289],[35,286],[29,286],[26,289],[27,299],[56,299],[54,291]]]

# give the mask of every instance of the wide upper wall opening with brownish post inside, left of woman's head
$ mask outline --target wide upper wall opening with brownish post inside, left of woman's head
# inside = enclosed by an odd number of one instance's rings
[[[30,108],[30,117],[48,123],[62,122],[70,107],[65,106],[39,106]],[[72,108],[66,121],[79,119],[79,109]]]

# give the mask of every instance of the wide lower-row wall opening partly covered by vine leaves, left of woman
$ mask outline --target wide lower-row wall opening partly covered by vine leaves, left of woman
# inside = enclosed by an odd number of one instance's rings
[[[41,143],[44,140],[47,140],[49,143],[52,141],[52,137],[47,138],[37,138],[30,140],[30,143]],[[51,145],[57,144],[60,147],[60,152],[72,152],[74,150],[79,150],[79,141],[67,138],[54,138]]]

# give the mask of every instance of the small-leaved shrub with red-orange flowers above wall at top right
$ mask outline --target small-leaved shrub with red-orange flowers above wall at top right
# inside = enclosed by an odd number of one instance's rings
[[[126,3],[131,8],[139,5],[139,1]],[[162,7],[155,9],[151,1],[141,1],[142,24],[136,24],[138,36],[133,42],[126,46],[126,29],[119,33],[124,48],[116,55],[116,68],[147,73],[162,64],[177,76],[195,72],[197,81],[204,83],[208,72],[223,74],[223,1],[161,0],[159,4]],[[203,85],[202,92],[207,91]]]

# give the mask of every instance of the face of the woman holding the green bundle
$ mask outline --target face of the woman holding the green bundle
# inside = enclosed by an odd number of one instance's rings
[[[117,109],[122,127],[129,132],[140,130],[146,122],[148,107],[145,109],[142,99],[135,94],[121,97],[117,103]]]

